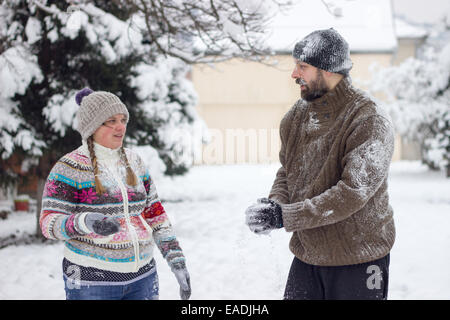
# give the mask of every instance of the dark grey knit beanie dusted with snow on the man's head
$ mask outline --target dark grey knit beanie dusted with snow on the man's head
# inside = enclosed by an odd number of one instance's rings
[[[311,32],[297,42],[292,55],[316,68],[345,76],[353,66],[347,41],[333,28]]]

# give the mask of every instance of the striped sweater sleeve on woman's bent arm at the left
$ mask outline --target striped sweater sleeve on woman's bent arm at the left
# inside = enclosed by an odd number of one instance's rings
[[[85,235],[83,213],[77,213],[77,200],[73,197],[77,182],[67,176],[67,169],[58,161],[52,168],[44,186],[39,226],[44,237],[68,240]]]

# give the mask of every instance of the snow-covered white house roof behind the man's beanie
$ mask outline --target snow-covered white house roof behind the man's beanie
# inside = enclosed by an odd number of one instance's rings
[[[347,40],[351,52],[393,52],[397,47],[391,0],[293,2],[271,21],[267,44],[276,52],[291,52],[312,31],[331,27]]]

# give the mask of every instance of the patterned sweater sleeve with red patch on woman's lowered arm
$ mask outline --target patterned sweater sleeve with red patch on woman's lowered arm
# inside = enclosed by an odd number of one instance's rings
[[[186,262],[183,251],[175,236],[169,217],[159,200],[155,183],[148,174],[146,177],[148,178],[144,181],[144,186],[147,191],[147,204],[143,212],[144,219],[152,228],[153,239],[169,267],[172,270],[184,268]]]

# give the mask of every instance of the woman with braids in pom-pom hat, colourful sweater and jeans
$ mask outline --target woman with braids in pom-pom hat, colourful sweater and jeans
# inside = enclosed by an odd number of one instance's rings
[[[153,247],[191,294],[185,257],[141,158],[122,146],[129,119],[112,93],[85,88],[76,101],[82,146],[55,164],[40,226],[65,241],[66,298],[158,299]]]

